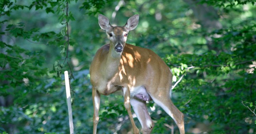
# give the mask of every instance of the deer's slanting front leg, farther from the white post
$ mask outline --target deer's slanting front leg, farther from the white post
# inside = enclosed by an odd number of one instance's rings
[[[139,129],[136,127],[132,117],[132,111],[130,106],[130,88],[128,86],[123,88],[123,94],[124,94],[124,107],[126,108],[130,121],[132,123],[133,133],[139,134]]]

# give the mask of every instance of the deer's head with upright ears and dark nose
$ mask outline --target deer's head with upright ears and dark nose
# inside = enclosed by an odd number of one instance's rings
[[[110,36],[110,48],[120,55],[123,52],[129,31],[135,29],[139,23],[139,15],[136,14],[130,17],[123,27],[113,27],[109,19],[102,14],[98,16],[98,23],[101,29],[105,30]]]

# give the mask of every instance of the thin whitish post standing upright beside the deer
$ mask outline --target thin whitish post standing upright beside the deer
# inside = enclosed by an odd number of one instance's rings
[[[74,134],[68,71],[65,71],[64,75],[65,75],[66,96],[67,96],[68,113],[69,113],[69,129],[70,129],[70,134]]]

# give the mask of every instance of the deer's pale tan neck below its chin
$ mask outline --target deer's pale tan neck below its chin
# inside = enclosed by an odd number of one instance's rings
[[[121,53],[117,53],[114,48],[110,45],[110,49],[108,51],[107,60],[106,60],[106,76],[107,79],[112,78],[119,71],[118,66],[121,59]]]

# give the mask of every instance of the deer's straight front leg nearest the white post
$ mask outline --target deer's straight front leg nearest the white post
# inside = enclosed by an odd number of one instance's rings
[[[93,133],[96,134],[97,133],[97,124],[99,121],[98,111],[100,109],[100,93],[98,93],[98,91],[94,87],[92,88],[92,101],[93,101],[93,105],[94,105]]]

